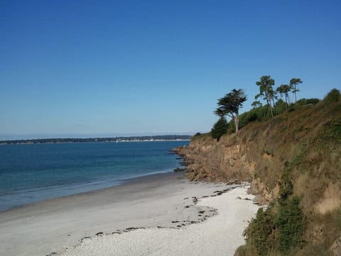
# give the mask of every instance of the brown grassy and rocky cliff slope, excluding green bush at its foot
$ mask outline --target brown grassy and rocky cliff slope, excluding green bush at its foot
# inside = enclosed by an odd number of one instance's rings
[[[333,255],[341,252],[340,100],[251,123],[219,142],[203,134],[175,151],[183,156],[192,181],[250,181],[256,203],[275,205],[271,218],[281,211],[278,200],[297,197],[306,221],[301,242],[289,246],[293,255],[316,255],[316,248]],[[276,240],[281,229],[275,224]],[[275,244],[264,255],[281,251]],[[239,255],[261,254],[252,245],[244,249]]]

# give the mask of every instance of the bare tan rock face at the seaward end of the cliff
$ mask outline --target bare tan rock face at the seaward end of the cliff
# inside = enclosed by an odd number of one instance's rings
[[[256,167],[271,169],[275,165],[281,166],[281,162],[257,142],[242,142],[236,134],[222,137],[219,142],[202,136],[189,146],[175,149],[175,152],[183,156],[190,181],[249,181],[250,192],[256,195],[256,203],[261,204],[268,203],[278,193],[278,189],[269,188],[261,181],[256,175]]]

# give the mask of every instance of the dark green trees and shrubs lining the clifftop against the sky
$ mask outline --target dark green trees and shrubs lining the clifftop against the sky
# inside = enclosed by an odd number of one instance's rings
[[[223,134],[223,130],[227,130],[228,134],[238,132],[239,128],[244,127],[250,122],[266,121],[277,114],[296,110],[300,106],[317,104],[318,99],[301,99],[296,100],[296,92],[299,92],[297,85],[303,81],[301,78],[292,78],[289,85],[280,85],[274,89],[275,80],[270,75],[263,75],[256,85],[259,86],[259,94],[254,96],[255,100],[261,97],[266,102],[266,106],[257,100],[252,103],[253,109],[239,115],[239,109],[243,107],[247,100],[242,89],[233,89],[224,97],[218,99],[217,109],[214,111],[220,119],[214,124],[211,130],[213,139],[219,140]],[[335,89],[336,90],[336,89]],[[295,97],[295,102],[291,101],[289,93]],[[279,94],[279,98],[278,98]],[[283,96],[285,101],[283,101]],[[222,118],[230,117],[231,120],[227,124],[223,124]]]

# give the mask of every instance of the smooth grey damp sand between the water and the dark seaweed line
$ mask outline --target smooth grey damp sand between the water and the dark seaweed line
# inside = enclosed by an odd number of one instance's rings
[[[152,230],[152,234],[155,230],[168,233],[169,230],[185,230],[200,223],[210,223],[221,213],[207,202],[224,199],[229,192],[220,192],[231,187],[224,183],[190,182],[182,173],[157,174],[134,178],[112,188],[13,208],[0,213],[0,242],[3,245],[0,255],[67,253],[87,237],[104,238],[101,240],[104,242],[105,234],[123,230],[130,230],[124,234],[131,235],[136,234],[135,228]],[[198,198],[207,202],[201,205],[197,203]],[[247,203],[247,208],[258,208],[251,201],[237,200],[235,196],[234,201],[231,212],[241,203],[242,207]],[[224,201],[220,203],[228,205]],[[202,211],[207,217],[200,213]],[[253,210],[250,214],[255,213]],[[241,236],[242,231],[239,240],[244,243]]]

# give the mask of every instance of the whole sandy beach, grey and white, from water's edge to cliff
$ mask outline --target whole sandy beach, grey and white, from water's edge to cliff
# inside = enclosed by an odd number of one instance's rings
[[[253,196],[246,186],[216,196],[231,186],[180,175],[0,213],[0,255],[233,255],[258,209],[237,197]]]

